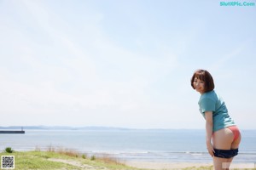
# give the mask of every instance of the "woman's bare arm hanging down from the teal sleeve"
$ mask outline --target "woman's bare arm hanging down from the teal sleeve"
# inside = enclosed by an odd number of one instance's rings
[[[205,112],[205,117],[206,117],[206,140],[207,140],[207,150],[211,156],[213,155],[213,146],[212,146],[212,111],[206,111]]]

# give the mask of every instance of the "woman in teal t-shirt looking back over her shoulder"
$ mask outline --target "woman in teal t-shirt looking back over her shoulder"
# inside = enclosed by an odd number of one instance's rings
[[[214,169],[229,169],[233,157],[238,154],[241,141],[239,129],[230,118],[223,99],[215,93],[208,71],[195,71],[191,86],[201,94],[198,105],[206,119],[207,150],[213,158]]]

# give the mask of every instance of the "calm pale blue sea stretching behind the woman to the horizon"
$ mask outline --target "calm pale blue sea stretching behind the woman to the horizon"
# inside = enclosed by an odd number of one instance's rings
[[[256,130],[241,130],[236,162],[256,162]],[[0,150],[78,150],[88,155],[108,154],[121,161],[211,162],[204,130],[26,130],[0,134]]]

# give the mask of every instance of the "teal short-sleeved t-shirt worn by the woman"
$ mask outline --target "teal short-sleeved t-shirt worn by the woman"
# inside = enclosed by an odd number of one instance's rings
[[[204,117],[206,111],[212,111],[213,132],[218,131],[219,129],[222,129],[224,127],[236,125],[229,116],[227,107],[223,99],[221,99],[214,90],[201,94],[198,105],[199,110]]]

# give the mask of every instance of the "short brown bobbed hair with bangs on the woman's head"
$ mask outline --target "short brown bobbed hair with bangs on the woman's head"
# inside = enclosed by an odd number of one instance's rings
[[[191,78],[191,86],[195,89],[193,82],[195,78],[200,79],[205,82],[205,92],[210,92],[214,89],[214,82],[212,75],[206,70],[197,70],[194,72],[193,77]]]

